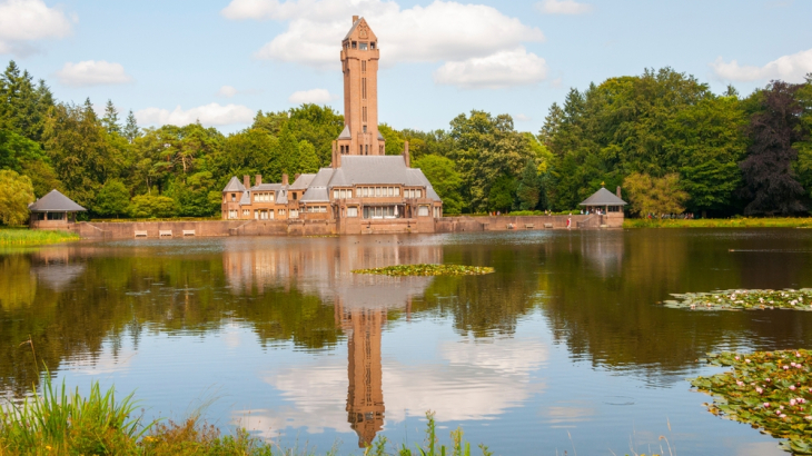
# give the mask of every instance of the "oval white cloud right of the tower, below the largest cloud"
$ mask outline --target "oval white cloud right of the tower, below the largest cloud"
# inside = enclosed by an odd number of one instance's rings
[[[464,89],[502,89],[536,83],[546,76],[544,59],[519,47],[487,57],[447,62],[434,72],[434,81]]]

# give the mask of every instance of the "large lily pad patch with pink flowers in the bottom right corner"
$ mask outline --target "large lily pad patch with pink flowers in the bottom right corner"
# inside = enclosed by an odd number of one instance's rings
[[[732,370],[696,377],[691,385],[713,396],[707,410],[778,438],[794,454],[812,454],[812,351],[722,353],[706,361]]]

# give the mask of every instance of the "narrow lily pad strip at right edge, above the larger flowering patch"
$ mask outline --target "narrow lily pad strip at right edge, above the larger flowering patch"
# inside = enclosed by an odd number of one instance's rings
[[[671,295],[676,300],[663,303],[666,307],[691,310],[812,310],[812,289],[800,290],[721,290]]]

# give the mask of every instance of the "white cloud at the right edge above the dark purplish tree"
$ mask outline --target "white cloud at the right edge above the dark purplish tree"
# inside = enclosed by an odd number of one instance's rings
[[[788,82],[803,82],[812,72],[812,49],[780,57],[763,67],[740,66],[737,61],[725,62],[721,57],[711,63],[713,72],[722,80],[757,81],[782,79]]]

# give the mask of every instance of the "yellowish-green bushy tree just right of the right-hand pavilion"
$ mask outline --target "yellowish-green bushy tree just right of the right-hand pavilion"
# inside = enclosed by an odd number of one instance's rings
[[[632,211],[645,217],[654,214],[662,219],[665,214],[682,214],[689,195],[680,189],[680,176],[670,174],[661,178],[633,172],[623,180],[632,202]]]

